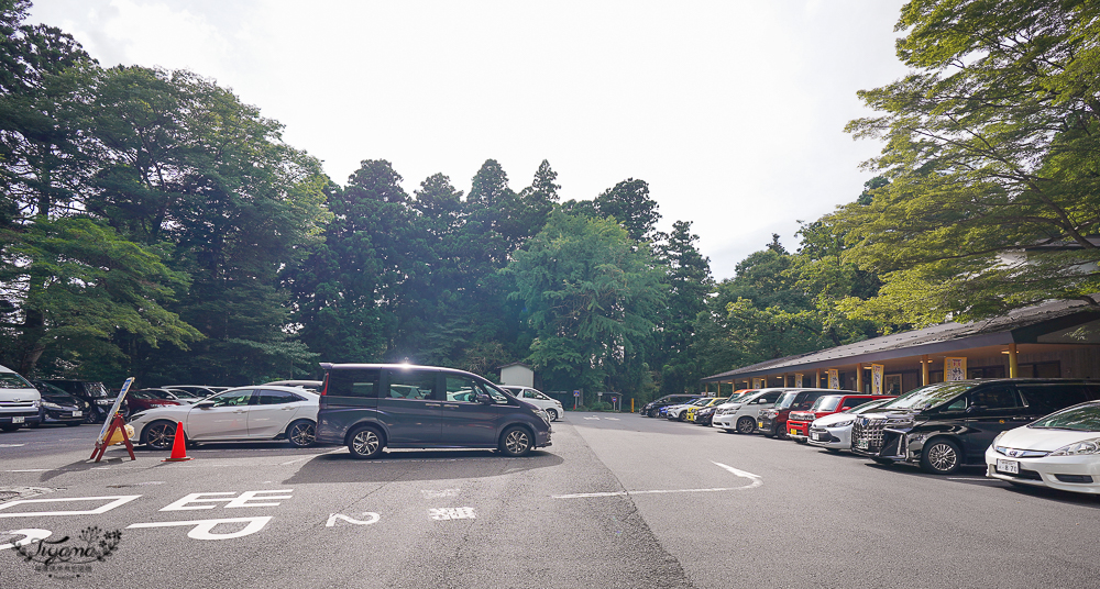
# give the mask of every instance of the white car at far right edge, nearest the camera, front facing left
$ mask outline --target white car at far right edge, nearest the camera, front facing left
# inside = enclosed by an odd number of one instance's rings
[[[986,476],[1013,485],[1100,493],[1100,401],[1001,432],[986,449]]]

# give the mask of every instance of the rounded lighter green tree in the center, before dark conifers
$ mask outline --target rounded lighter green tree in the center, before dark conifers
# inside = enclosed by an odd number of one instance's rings
[[[648,245],[618,224],[550,215],[507,268],[536,332],[529,362],[551,386],[615,390],[638,378],[664,289]]]

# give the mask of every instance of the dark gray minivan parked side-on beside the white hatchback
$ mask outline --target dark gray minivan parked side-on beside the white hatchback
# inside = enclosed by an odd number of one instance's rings
[[[484,378],[432,366],[328,364],[317,442],[356,458],[391,448],[499,448],[522,456],[550,445],[550,419]]]

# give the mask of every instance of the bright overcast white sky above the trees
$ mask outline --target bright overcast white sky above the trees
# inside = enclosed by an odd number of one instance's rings
[[[905,74],[901,0],[651,2],[34,0],[105,67],[186,68],[232,88],[344,185],[387,159],[413,192],[469,191],[485,159],[564,199],[627,178],[693,223],[716,278],[798,221],[855,200],[881,145],[856,91]]]

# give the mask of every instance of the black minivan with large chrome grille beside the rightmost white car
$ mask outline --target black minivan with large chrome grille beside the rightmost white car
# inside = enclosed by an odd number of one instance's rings
[[[983,465],[997,434],[1093,399],[1100,399],[1100,382],[1093,380],[937,382],[859,415],[851,426],[851,452],[948,475],[966,464]]]

